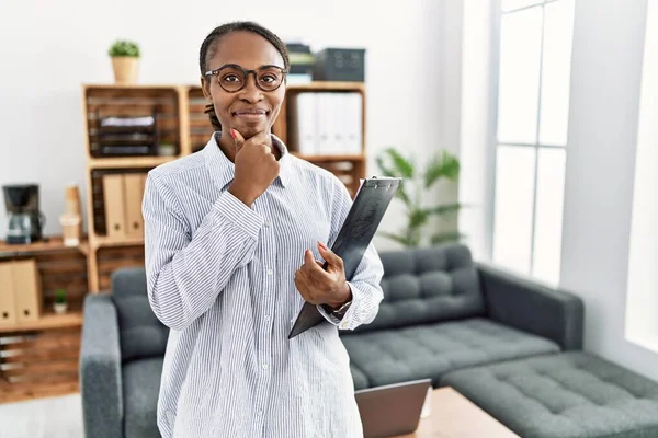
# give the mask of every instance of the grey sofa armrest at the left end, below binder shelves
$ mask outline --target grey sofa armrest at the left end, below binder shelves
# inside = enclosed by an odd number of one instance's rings
[[[84,436],[123,437],[123,389],[116,308],[107,293],[84,298],[80,394]]]

